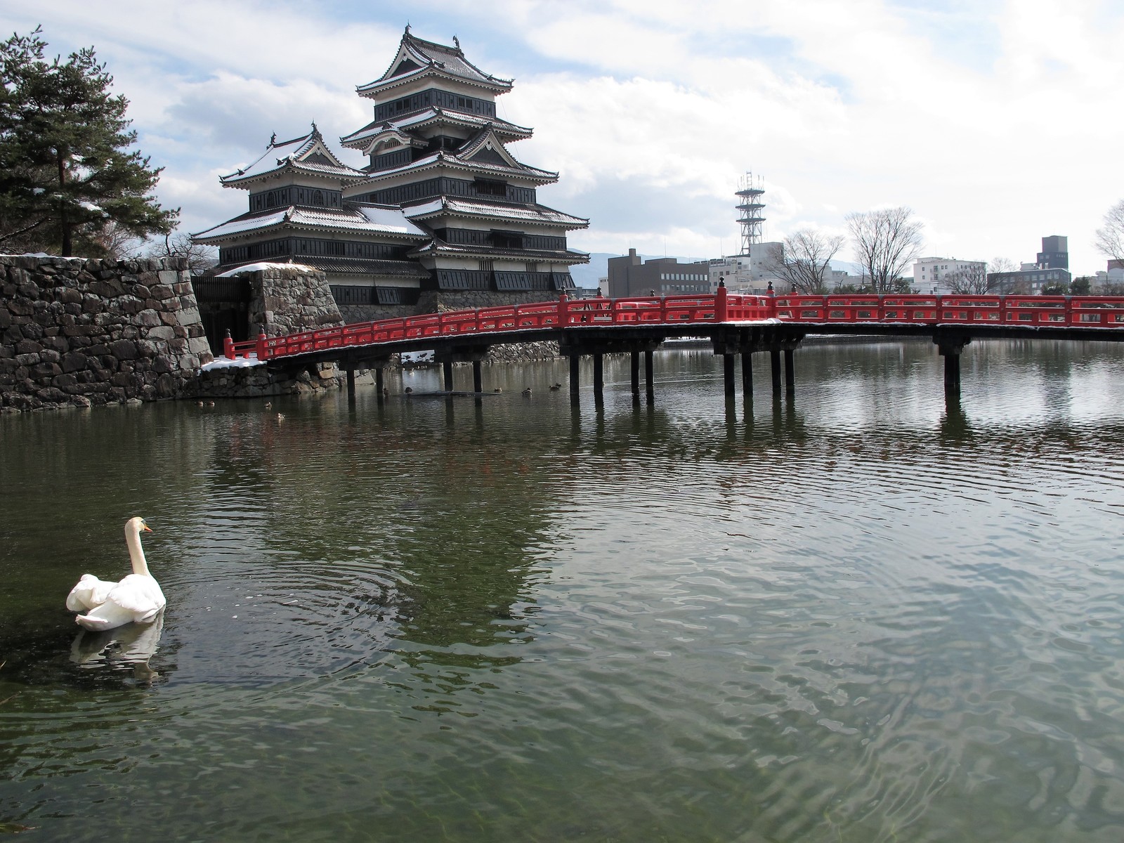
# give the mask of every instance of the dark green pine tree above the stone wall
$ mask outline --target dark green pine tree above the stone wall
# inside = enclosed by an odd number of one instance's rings
[[[40,31],[0,44],[0,246],[97,255],[109,224],[166,234],[179,209],[152,196],[163,167],[128,149],[128,100],[93,47],[48,62]]]

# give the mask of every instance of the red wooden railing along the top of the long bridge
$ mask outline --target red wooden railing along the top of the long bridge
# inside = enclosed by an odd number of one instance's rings
[[[303,330],[235,343],[224,354],[259,360],[330,348],[463,334],[504,334],[536,328],[716,323],[989,325],[1049,328],[1108,328],[1124,332],[1124,297],[1066,296],[741,296],[716,294],[634,299],[568,299]]]

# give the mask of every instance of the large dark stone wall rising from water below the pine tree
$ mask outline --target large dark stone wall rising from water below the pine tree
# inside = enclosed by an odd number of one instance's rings
[[[210,360],[182,259],[0,256],[0,411],[174,398]]]

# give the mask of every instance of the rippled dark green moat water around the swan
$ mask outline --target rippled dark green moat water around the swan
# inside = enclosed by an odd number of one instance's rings
[[[653,408],[622,359],[600,413],[560,362],[0,417],[0,824],[1124,839],[1124,346],[969,346],[953,410],[931,344],[801,350],[776,404],[767,362],[749,407],[685,351]],[[132,515],[163,626],[80,640]]]

